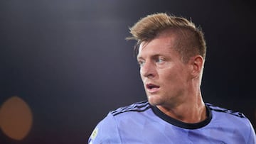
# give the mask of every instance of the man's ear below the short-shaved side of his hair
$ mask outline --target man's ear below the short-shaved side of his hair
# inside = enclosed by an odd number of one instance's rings
[[[194,57],[191,57],[191,76],[192,77],[198,77],[201,75],[201,72],[203,70],[203,57],[201,55],[196,55]]]

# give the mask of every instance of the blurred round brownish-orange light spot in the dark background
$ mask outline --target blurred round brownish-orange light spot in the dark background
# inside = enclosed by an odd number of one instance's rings
[[[22,140],[28,135],[32,121],[31,109],[18,96],[7,99],[0,107],[0,129],[14,140]]]

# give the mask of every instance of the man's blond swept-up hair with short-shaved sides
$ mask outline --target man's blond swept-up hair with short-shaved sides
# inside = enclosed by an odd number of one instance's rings
[[[201,28],[196,28],[192,21],[178,16],[170,16],[166,13],[155,13],[140,19],[129,28],[132,37],[127,40],[137,40],[134,51],[138,52],[139,45],[156,38],[159,33],[171,29],[171,32],[178,35],[175,50],[186,62],[193,55],[201,55],[206,58],[206,40]]]

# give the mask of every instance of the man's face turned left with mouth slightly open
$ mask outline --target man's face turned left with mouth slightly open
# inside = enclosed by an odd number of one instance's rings
[[[139,45],[137,60],[149,103],[170,105],[183,101],[188,92],[189,65],[174,50],[175,35],[161,34]]]

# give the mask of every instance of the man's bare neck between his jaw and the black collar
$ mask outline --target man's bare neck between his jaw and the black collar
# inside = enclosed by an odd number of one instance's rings
[[[199,123],[206,119],[206,106],[201,93],[195,98],[188,99],[175,106],[157,106],[167,116],[184,123]]]

